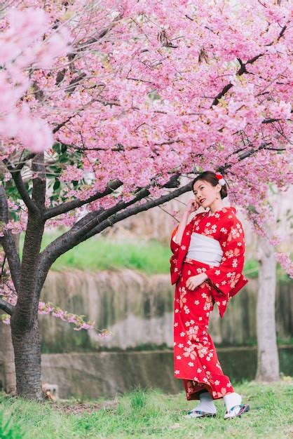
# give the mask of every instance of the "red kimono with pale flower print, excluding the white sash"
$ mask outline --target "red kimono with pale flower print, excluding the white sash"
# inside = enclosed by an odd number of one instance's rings
[[[243,227],[233,207],[217,210],[208,216],[198,213],[186,225],[181,244],[175,243],[172,233],[170,259],[171,282],[176,283],[174,302],[174,370],[182,379],[187,400],[200,399],[201,391],[212,398],[223,398],[233,392],[229,377],[224,375],[212,338],[207,332],[214,302],[223,318],[229,299],[248,282],[243,276],[245,241]],[[223,250],[222,262],[212,266],[187,259],[191,234],[217,239]],[[186,287],[191,276],[205,272],[207,281],[195,290]]]

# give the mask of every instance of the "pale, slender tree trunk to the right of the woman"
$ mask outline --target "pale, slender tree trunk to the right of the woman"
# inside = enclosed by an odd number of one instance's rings
[[[279,357],[275,330],[276,264],[273,248],[258,238],[259,292],[257,299],[257,381],[278,381]]]

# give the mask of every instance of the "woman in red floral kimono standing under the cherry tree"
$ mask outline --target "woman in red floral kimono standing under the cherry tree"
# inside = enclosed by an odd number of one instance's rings
[[[182,379],[187,400],[200,400],[187,417],[213,417],[213,400],[224,398],[224,419],[250,410],[217,358],[207,332],[214,303],[221,318],[229,299],[243,288],[245,241],[236,209],[224,207],[227,195],[222,175],[205,171],[192,182],[196,198],[189,201],[179,226],[172,233],[171,281],[175,288],[175,378]],[[191,212],[200,212],[187,224]],[[186,225],[187,224],[187,225]]]

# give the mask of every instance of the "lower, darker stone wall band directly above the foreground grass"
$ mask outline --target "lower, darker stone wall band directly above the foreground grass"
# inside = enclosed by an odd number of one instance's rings
[[[252,380],[257,370],[257,347],[219,348],[219,361],[231,381]],[[293,375],[293,346],[280,346],[280,372]],[[175,379],[173,352],[49,353],[42,356],[42,382],[57,384],[60,398],[113,398],[135,386],[183,391]]]

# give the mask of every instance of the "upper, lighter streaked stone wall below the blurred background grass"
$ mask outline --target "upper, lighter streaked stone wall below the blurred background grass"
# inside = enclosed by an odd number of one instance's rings
[[[292,282],[278,283],[276,299],[277,332],[292,337]],[[40,316],[43,352],[142,349],[143,346],[172,346],[174,287],[170,276],[145,276],[129,269],[85,273],[51,271],[43,288],[44,301],[62,309],[85,314],[100,330],[114,335],[102,339],[96,330],[72,330],[72,325],[53,316]],[[229,302],[224,318],[217,304],[210,316],[210,334],[217,344],[245,345],[256,335],[257,279]]]

